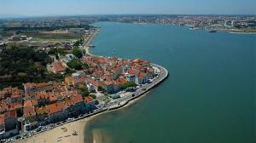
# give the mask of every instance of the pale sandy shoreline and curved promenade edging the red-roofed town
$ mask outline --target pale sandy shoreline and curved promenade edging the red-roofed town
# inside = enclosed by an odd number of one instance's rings
[[[99,56],[99,55],[95,55],[95,54],[90,54],[90,43],[92,42],[92,40],[96,37],[96,35],[98,34],[98,32],[100,31],[100,28],[96,28],[96,31],[90,36],[90,38],[86,41],[86,43],[84,44],[84,49],[86,51],[87,55],[90,56]],[[152,64],[154,66],[158,66],[155,64]],[[34,134],[30,137],[27,137],[23,140],[15,140],[15,142],[19,142],[19,143],[33,143],[33,142],[38,142],[38,143],[45,143],[45,142],[63,142],[63,143],[69,143],[69,142],[73,142],[73,143],[79,143],[79,142],[86,142],[88,140],[86,140],[86,134],[85,134],[85,129],[88,126],[88,123],[93,121],[93,119],[97,116],[100,116],[102,114],[106,114],[109,112],[115,112],[121,109],[124,109],[127,106],[131,106],[133,103],[137,102],[137,100],[142,99],[143,97],[145,97],[145,95],[147,95],[151,89],[154,89],[155,87],[157,87],[160,83],[164,82],[166,80],[166,78],[168,77],[168,72],[167,70],[162,67],[162,66],[158,66],[159,68],[161,68],[162,70],[164,70],[166,72],[166,76],[163,77],[162,79],[160,79],[160,81],[158,81],[157,83],[153,84],[152,87],[148,88],[147,90],[145,90],[143,93],[138,94],[135,97],[132,97],[129,100],[125,101],[125,104],[116,106],[114,108],[111,108],[107,111],[102,111],[102,112],[96,112],[95,114],[90,115],[89,117],[84,117],[84,118],[80,118],[79,120],[70,122],[70,123],[65,123],[65,124],[61,124],[58,127],[55,127],[53,129],[49,129],[47,131],[38,133],[38,134]],[[64,132],[63,128],[66,128],[67,131]],[[77,131],[78,135],[72,135],[73,131]],[[60,139],[60,140],[58,140]],[[97,142],[97,140],[100,139],[100,136],[97,137],[92,137],[92,140],[88,141],[88,142]],[[87,143],[87,142],[86,142]]]

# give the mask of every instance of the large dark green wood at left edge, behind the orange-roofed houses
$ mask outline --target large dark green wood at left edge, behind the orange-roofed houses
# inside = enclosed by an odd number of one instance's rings
[[[51,62],[44,51],[32,48],[13,47],[3,50],[0,54],[0,89],[8,86],[22,89],[22,83],[28,82],[63,81],[61,74],[47,72],[46,65]]]

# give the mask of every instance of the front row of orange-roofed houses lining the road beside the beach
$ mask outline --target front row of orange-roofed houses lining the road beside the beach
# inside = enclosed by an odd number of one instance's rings
[[[71,94],[63,100],[46,106],[26,106],[23,108],[24,129],[35,129],[49,123],[58,123],[68,117],[78,117],[96,108],[96,102],[91,97]]]

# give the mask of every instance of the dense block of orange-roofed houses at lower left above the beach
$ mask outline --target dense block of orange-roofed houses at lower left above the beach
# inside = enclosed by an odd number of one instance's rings
[[[65,83],[24,83],[24,90],[4,88],[0,91],[0,139],[95,108],[96,100]]]

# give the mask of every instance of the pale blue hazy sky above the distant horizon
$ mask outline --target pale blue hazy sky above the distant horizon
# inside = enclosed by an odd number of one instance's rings
[[[256,0],[0,0],[0,14],[256,14]]]

